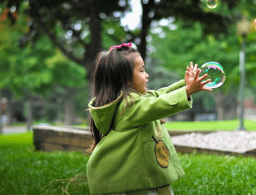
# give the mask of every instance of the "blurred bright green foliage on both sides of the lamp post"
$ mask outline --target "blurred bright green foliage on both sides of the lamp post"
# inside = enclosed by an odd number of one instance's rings
[[[192,3],[192,2],[191,2]],[[196,3],[196,1],[193,1]],[[192,3],[192,4],[193,4]],[[254,2],[255,3],[255,2]],[[192,5],[191,4],[191,5]],[[197,63],[199,67],[203,63],[209,61],[216,61],[220,63],[226,71],[226,81],[222,86],[225,93],[229,93],[232,87],[238,87],[239,77],[239,51],[241,50],[242,37],[236,33],[236,24],[240,20],[241,15],[245,15],[247,19],[253,24],[255,19],[256,6],[253,1],[218,1],[218,7],[209,9],[205,5],[205,1],[199,3],[201,9],[205,13],[221,14],[225,17],[233,19],[232,23],[228,25],[227,32],[224,34],[211,33],[205,34],[205,26],[207,22],[199,22],[199,20],[181,19],[180,17],[172,23],[172,26],[177,25],[177,30],[170,30],[168,26],[158,26],[156,32],[152,30],[152,46],[156,48],[156,52],[151,56],[162,61],[162,65],[168,69],[177,70],[180,77],[183,78],[185,74],[185,67],[189,66],[189,62]],[[193,5],[195,8],[195,5]],[[230,9],[232,7],[233,9]],[[189,11],[189,10],[188,10]],[[223,18],[222,18],[223,19]],[[212,25],[212,24],[209,24]],[[161,34],[166,34],[161,38]],[[251,87],[255,85],[255,30],[247,36],[247,50],[246,50],[246,69],[247,69],[247,83]]]

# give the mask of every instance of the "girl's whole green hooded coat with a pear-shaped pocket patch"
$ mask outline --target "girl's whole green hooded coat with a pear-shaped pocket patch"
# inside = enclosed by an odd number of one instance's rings
[[[192,107],[185,81],[145,94],[130,93],[128,102],[94,108],[90,114],[103,139],[87,165],[91,194],[160,188],[185,175],[168,131],[160,118]]]

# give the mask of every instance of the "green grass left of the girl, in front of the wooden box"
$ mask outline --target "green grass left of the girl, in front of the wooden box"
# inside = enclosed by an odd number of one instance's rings
[[[66,188],[71,178],[86,173],[89,158],[82,151],[34,151],[32,132],[0,135],[0,157],[1,195],[44,194],[47,190],[46,194],[62,194],[62,188]],[[57,181],[48,185],[53,180]],[[84,180],[79,188],[74,186],[77,180]],[[78,177],[74,182],[69,184],[67,192],[90,194],[86,178]]]

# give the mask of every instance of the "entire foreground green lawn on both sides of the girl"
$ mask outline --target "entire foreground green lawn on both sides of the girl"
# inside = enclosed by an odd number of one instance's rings
[[[90,194],[88,155],[34,151],[32,132],[0,135],[0,194]],[[172,184],[179,195],[256,194],[256,159],[179,153],[186,175]],[[77,176],[77,177],[74,177]]]

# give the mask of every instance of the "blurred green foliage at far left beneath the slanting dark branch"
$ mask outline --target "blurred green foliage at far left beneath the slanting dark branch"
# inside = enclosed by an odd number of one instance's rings
[[[26,26],[14,26],[6,20],[0,37],[0,88],[10,87],[23,96],[30,93],[46,95],[53,84],[77,88],[86,84],[86,70],[57,50],[49,38],[42,36],[35,45],[18,46]],[[21,30],[20,30],[21,29]]]

